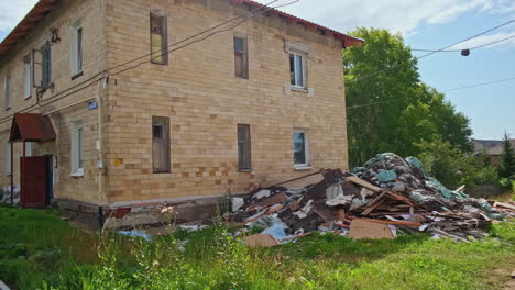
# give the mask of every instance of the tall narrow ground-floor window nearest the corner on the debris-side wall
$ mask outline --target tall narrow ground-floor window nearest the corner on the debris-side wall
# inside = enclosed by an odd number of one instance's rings
[[[169,172],[169,118],[152,116],[152,166],[154,174]]]

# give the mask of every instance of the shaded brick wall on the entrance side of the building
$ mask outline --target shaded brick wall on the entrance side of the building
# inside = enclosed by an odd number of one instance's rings
[[[105,0],[73,0],[59,1],[56,10],[47,18],[36,24],[31,34],[19,43],[8,55],[0,57],[0,185],[10,185],[10,177],[6,175],[6,141],[15,112],[46,113],[63,107],[73,104],[96,94],[96,86],[90,86],[85,90],[67,96],[73,90],[67,91],[106,68],[106,38],[105,38]],[[70,31],[69,27],[77,20],[83,23],[83,46],[84,46],[84,75],[72,80],[69,51]],[[40,48],[50,40],[50,29],[57,27],[61,42],[52,46],[52,81],[54,90],[47,90],[40,98],[37,104],[36,90],[32,89],[32,97],[28,100],[23,98],[23,57],[31,53],[33,48]],[[6,111],[3,108],[3,78],[11,76],[11,103],[12,108]],[[80,87],[78,87],[80,88]],[[76,89],[78,89],[76,88]],[[106,90],[100,94],[105,96]],[[98,183],[96,181],[97,150],[96,140],[98,138],[98,110],[88,111],[87,102],[79,103],[65,110],[59,110],[51,114],[57,140],[33,144],[33,156],[51,154],[56,157],[57,168],[55,169],[54,197],[62,199],[74,199],[86,202],[97,200]],[[70,122],[83,120],[85,136],[85,175],[83,178],[70,177]],[[19,157],[22,154],[21,143],[14,145],[14,185],[20,183]]]

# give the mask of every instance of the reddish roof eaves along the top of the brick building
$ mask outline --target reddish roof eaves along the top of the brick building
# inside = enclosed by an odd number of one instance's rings
[[[46,16],[52,10],[55,9],[57,2],[61,0],[39,0],[37,3],[32,8],[32,10],[23,18],[23,20],[18,23],[18,25],[9,33],[9,35],[0,43],[0,56],[9,53],[14,45],[22,41],[26,35],[29,35],[37,24],[37,22]],[[248,4],[255,8],[267,8],[261,3],[258,3],[252,0],[229,0],[232,4]],[[342,42],[343,47],[350,47],[355,45],[362,45],[364,40],[358,38],[354,36],[347,35],[341,32],[330,30],[328,27],[318,25],[316,23],[309,22],[307,20],[291,15],[288,13],[278,11],[276,9],[271,9],[270,11],[278,14],[280,16],[286,19],[291,23],[303,23],[306,27],[314,27],[322,31],[326,34],[332,34],[335,38]]]

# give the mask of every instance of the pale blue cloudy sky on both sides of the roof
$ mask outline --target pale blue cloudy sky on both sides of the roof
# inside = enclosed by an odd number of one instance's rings
[[[267,3],[271,0],[258,0]],[[0,0],[0,40],[36,0]],[[281,0],[277,4],[289,2]],[[348,32],[357,26],[402,33],[413,48],[441,48],[515,19],[514,0],[300,0],[284,11],[328,27]],[[515,35],[515,23],[456,48]],[[424,53],[414,53],[423,55]],[[438,53],[420,59],[421,80],[440,91],[515,77],[515,38],[472,51]],[[447,99],[471,119],[475,138],[515,137],[515,80],[449,91]]]

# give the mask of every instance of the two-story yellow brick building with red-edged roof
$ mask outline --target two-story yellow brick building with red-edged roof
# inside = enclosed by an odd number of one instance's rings
[[[0,44],[1,186],[116,226],[346,169],[362,43],[250,0],[40,0]]]

